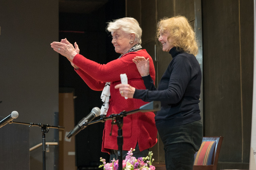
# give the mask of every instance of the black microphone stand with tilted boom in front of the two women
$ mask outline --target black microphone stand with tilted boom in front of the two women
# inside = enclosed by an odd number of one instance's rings
[[[87,127],[88,125],[95,124],[98,122],[105,122],[107,120],[112,120],[113,125],[118,126],[118,131],[117,131],[117,145],[118,145],[118,169],[122,170],[122,145],[123,145],[123,136],[122,136],[122,126],[123,126],[123,118],[125,116],[128,116],[133,113],[137,112],[149,112],[149,111],[160,111],[161,109],[161,103],[158,101],[152,101],[146,105],[141,106],[139,109],[135,109],[132,111],[122,111],[119,114],[111,114],[108,117],[101,117],[99,120],[95,120],[92,122],[85,122],[84,127]],[[116,122],[114,122],[116,120]],[[120,169],[121,167],[121,169]]]

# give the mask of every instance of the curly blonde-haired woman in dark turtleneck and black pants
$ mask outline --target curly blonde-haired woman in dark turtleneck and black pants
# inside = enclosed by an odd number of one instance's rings
[[[116,85],[121,96],[143,101],[160,101],[155,122],[164,144],[166,170],[192,170],[194,154],[203,138],[200,102],[201,68],[195,58],[198,46],[195,33],[183,16],[164,18],[157,24],[163,51],[172,56],[168,68],[155,88],[149,73],[149,60],[135,57],[134,63],[146,90],[131,85]]]

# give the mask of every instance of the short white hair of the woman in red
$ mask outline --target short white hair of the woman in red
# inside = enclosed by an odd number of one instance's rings
[[[107,30],[113,34],[114,31],[121,29],[127,34],[135,34],[135,42],[141,44],[142,29],[137,20],[132,17],[125,17],[109,22]]]

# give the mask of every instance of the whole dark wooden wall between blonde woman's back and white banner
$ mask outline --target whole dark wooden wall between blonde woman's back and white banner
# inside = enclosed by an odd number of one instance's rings
[[[220,167],[248,168],[253,0],[202,1],[202,12],[204,134],[224,136]]]

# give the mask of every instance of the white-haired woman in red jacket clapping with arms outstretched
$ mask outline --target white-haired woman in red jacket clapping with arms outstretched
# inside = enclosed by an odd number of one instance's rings
[[[137,20],[131,17],[125,17],[108,23],[108,31],[113,37],[112,44],[116,53],[121,54],[107,64],[99,64],[86,56],[79,54],[79,47],[75,43],[73,47],[67,39],[61,42],[52,42],[51,47],[54,51],[67,57],[75,71],[84,80],[84,82],[95,91],[102,91],[104,106],[101,114],[109,116],[122,111],[131,111],[145,105],[140,99],[125,99],[115,89],[115,85],[121,83],[120,74],[126,74],[128,84],[137,89],[145,89],[143,79],[137,70],[132,59],[136,56],[144,56],[150,61],[150,75],[155,80],[155,71],[153,60],[145,49],[142,49],[141,36],[142,30]],[[105,97],[104,97],[105,96]],[[107,96],[107,97],[106,97]],[[109,96],[109,97],[108,97]],[[104,113],[105,112],[105,113]],[[131,148],[135,148],[134,156],[145,157],[148,149],[153,147],[157,142],[157,129],[154,122],[154,113],[134,113],[123,119],[123,159]],[[111,154],[113,158],[117,156],[117,139],[118,127],[113,125],[111,132],[111,120],[105,122],[103,131],[102,152]],[[112,135],[110,136],[110,133]]]

